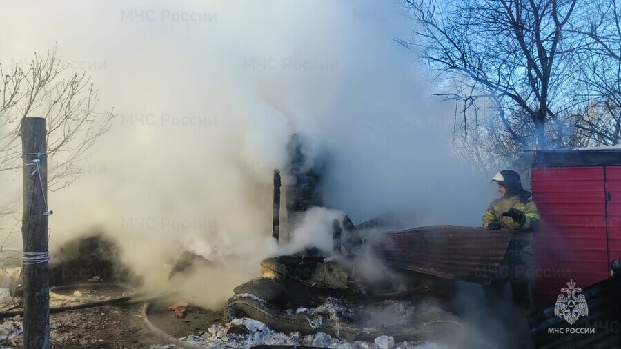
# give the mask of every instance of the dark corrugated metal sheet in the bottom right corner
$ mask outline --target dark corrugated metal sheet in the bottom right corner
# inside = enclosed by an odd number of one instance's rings
[[[529,315],[535,348],[621,348],[621,275],[588,286],[581,294],[589,312],[571,325],[554,315],[555,303]]]

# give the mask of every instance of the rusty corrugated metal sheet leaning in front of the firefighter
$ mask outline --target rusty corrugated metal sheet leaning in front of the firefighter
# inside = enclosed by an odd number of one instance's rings
[[[385,232],[370,242],[388,266],[473,283],[497,278],[511,230],[427,226]]]

